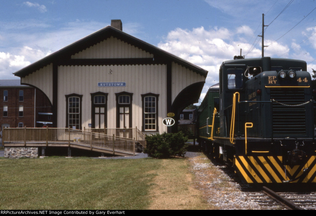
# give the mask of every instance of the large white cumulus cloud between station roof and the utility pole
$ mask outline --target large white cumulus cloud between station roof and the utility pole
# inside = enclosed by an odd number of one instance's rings
[[[205,30],[203,26],[192,30],[176,28],[158,47],[208,70],[205,86],[209,88],[218,82],[218,69],[223,61],[233,59],[240,48],[250,49],[250,44],[234,40],[235,34],[248,32],[252,33],[248,26],[241,26],[234,32],[217,27]],[[249,56],[258,57],[258,54],[259,50],[253,49]]]

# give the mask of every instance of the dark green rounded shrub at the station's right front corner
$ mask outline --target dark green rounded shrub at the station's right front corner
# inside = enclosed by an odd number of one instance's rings
[[[183,157],[186,152],[185,142],[188,140],[181,132],[175,134],[146,135],[147,147],[144,152],[150,157],[169,158],[171,156]]]

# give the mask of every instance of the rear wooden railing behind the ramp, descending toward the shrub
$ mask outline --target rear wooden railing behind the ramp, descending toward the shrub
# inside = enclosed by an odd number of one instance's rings
[[[143,147],[146,147],[145,134],[142,133],[137,127],[136,128],[84,128],[84,131],[92,131],[99,134],[106,134],[124,138],[134,139]]]

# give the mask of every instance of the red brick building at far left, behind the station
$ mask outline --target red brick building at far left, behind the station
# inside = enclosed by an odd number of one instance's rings
[[[34,128],[52,125],[49,100],[40,90],[21,85],[21,80],[0,80],[0,125]]]

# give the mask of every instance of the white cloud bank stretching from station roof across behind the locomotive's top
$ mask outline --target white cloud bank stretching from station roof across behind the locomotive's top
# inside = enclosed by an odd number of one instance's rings
[[[218,70],[222,62],[232,60],[234,55],[239,55],[240,48],[242,48],[242,55],[246,55],[252,48],[253,41],[249,43],[244,38],[251,37],[252,34],[253,31],[249,26],[239,26],[235,30],[217,27],[205,30],[203,26],[192,30],[176,28],[168,33],[158,47],[209,71],[200,98],[203,99],[208,88],[219,82]],[[261,38],[258,40],[259,43],[252,48],[246,58],[261,57]],[[309,53],[294,42],[292,50],[288,45],[272,42],[265,40],[265,45],[270,45],[265,48],[264,56],[279,57],[283,55],[282,58],[313,60]]]

